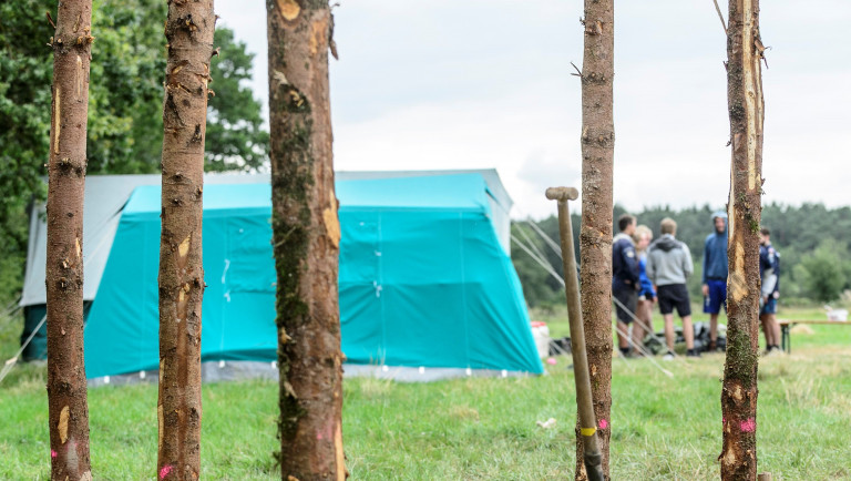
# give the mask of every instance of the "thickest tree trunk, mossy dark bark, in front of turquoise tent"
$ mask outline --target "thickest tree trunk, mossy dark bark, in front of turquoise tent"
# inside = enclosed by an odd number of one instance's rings
[[[326,0],[267,4],[284,480],[345,480]]]

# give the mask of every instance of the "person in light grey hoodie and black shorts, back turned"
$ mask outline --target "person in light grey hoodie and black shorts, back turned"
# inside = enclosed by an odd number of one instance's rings
[[[670,217],[662,219],[662,237],[650,244],[647,250],[647,277],[656,286],[659,310],[665,319],[665,341],[668,352],[664,359],[674,358],[674,309],[683,319],[683,336],[686,338],[686,356],[699,357],[695,349],[695,330],[691,327],[691,304],[688,299],[686,279],[695,266],[688,246],[675,238],[677,223]]]

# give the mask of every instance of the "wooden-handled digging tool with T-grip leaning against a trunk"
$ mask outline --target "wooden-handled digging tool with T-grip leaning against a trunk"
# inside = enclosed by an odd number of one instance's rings
[[[591,481],[604,481],[603,456],[597,446],[597,419],[591,398],[591,377],[588,357],[585,354],[585,328],[580,308],[580,283],[576,279],[576,258],[573,247],[573,227],[567,201],[580,196],[573,187],[550,187],[546,198],[558,201],[558,232],[562,237],[562,260],[564,263],[564,291],[567,296],[567,318],[571,323],[571,351],[573,352],[573,373],[576,381],[576,408],[580,413],[580,433],[585,452],[585,472]]]

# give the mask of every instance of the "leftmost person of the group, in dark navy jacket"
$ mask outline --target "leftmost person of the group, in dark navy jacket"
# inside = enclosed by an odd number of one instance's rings
[[[638,299],[638,257],[635,255],[633,233],[635,217],[628,214],[617,219],[619,234],[612,239],[612,296],[617,299],[617,346],[626,356],[629,352],[629,324],[635,316]]]

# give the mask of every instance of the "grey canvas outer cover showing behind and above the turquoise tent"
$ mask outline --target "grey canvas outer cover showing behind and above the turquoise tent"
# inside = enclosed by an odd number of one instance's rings
[[[500,245],[505,253],[511,253],[511,218],[509,211],[513,202],[502,185],[496,170],[459,171],[338,171],[337,180],[352,181],[362,178],[392,178],[429,175],[452,175],[478,173],[484,177],[491,201],[492,222],[496,229]],[[85,199],[83,211],[83,299],[94,300],[101,284],[103,269],[110,256],[112,240],[119,226],[121,212],[130,195],[142,185],[160,185],[162,177],[152,175],[89,175],[85,177]],[[259,184],[268,183],[269,174],[206,174],[205,184]],[[47,304],[44,288],[44,267],[48,249],[48,226],[44,205],[37,205],[30,213],[30,236],[27,254],[27,273],[23,280],[23,294],[20,305],[35,306]]]

